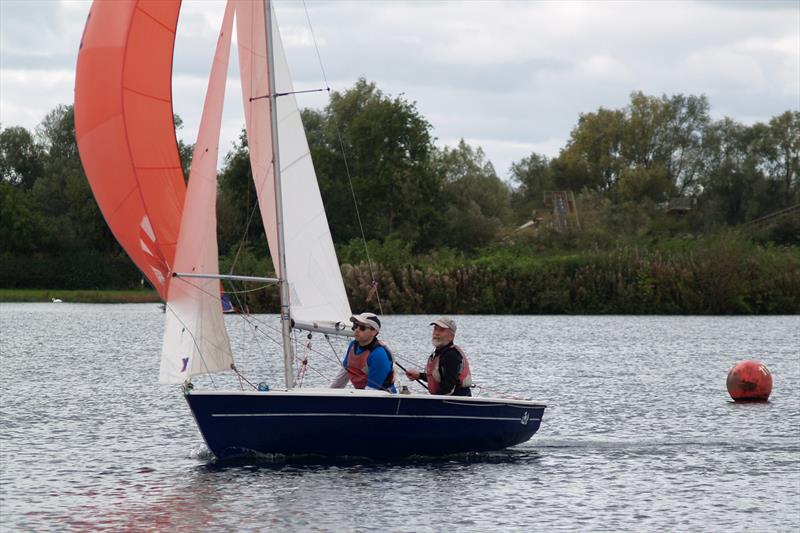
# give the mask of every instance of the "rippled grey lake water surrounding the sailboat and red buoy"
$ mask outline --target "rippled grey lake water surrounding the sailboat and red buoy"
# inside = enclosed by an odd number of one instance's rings
[[[227,318],[240,368],[280,385],[275,344]],[[156,305],[0,305],[0,530],[800,528],[799,317],[456,318],[482,394],[548,404],[529,442],[220,464],[179,388],[157,384]],[[385,317],[404,366],[427,356],[430,319]],[[305,382],[325,385],[333,352],[312,348]],[[769,403],[730,401],[727,372],[748,358],[772,371]]]

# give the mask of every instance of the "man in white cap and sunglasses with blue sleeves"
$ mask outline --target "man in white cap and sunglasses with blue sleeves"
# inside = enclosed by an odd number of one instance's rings
[[[350,321],[353,323],[355,340],[347,347],[342,369],[331,383],[331,388],[344,388],[350,381],[357,389],[396,393],[392,352],[378,340],[381,320],[373,313],[361,313],[351,316]]]

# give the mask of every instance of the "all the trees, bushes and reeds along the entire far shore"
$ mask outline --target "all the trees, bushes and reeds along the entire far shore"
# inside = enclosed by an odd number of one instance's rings
[[[747,125],[703,95],[636,91],[507,180],[365,79],[302,119],[353,311],[800,314],[796,109]],[[178,142],[187,180],[192,152]],[[72,106],[0,125],[0,178],[0,301],[159,301],[94,201]],[[244,132],[217,178],[220,272],[274,276]],[[279,309],[274,286],[224,289]]]

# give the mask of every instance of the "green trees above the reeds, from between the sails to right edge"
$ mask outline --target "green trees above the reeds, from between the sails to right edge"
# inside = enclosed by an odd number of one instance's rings
[[[499,178],[479,146],[461,140],[437,147],[414,102],[387,96],[364,79],[302,116],[340,245],[361,237],[353,193],[367,240],[399,240],[415,253],[473,254],[534,210],[546,210],[548,190],[582,194],[590,210],[603,206],[595,223],[616,234],[653,230],[653,219],[674,197],[695,201],[682,225],[695,233],[800,203],[798,111],[746,126],[712,120],[704,96],[636,92],[623,109],[582,114],[557,157],[532,153],[514,162],[510,182]],[[242,194],[251,188],[244,137],[226,164],[221,189],[252,202],[252,190]],[[241,235],[238,230],[231,235]]]

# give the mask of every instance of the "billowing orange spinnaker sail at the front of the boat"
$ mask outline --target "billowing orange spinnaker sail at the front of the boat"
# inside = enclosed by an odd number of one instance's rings
[[[95,0],[75,73],[75,133],[111,231],[166,300],[186,195],[172,113],[180,0]]]

